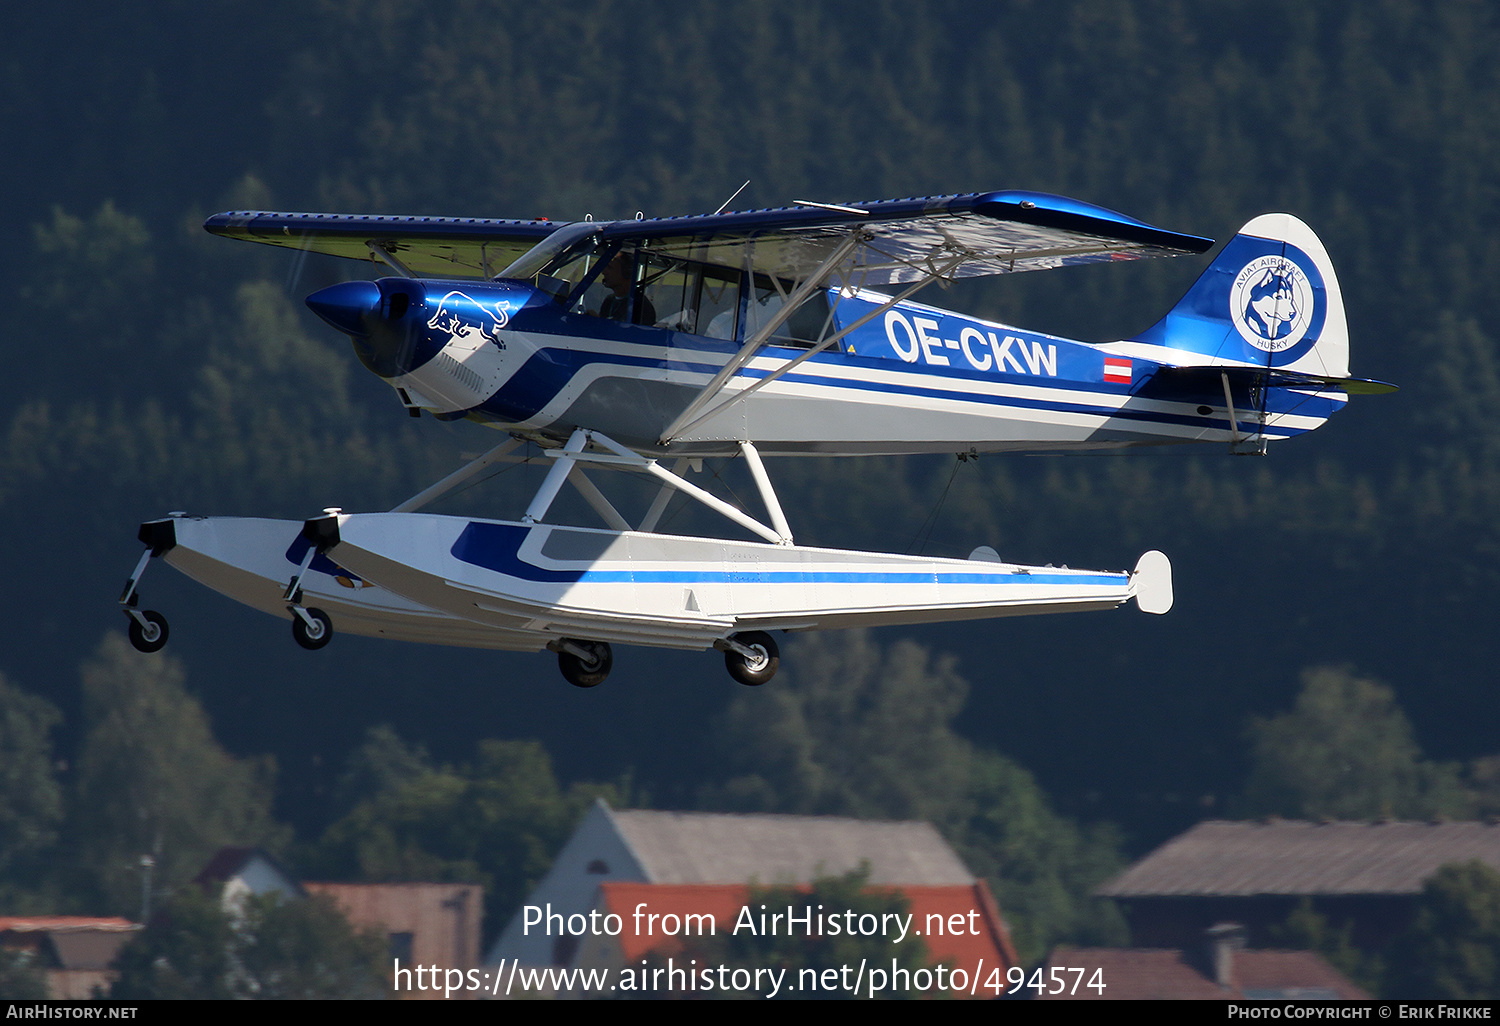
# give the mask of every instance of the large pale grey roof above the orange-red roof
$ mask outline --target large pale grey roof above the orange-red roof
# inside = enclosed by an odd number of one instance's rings
[[[810,884],[870,866],[873,885],[972,885],[926,822],[609,810],[652,884]]]

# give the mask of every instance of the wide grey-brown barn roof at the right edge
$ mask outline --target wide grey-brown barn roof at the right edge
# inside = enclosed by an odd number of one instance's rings
[[[1101,897],[1418,894],[1438,867],[1500,868],[1500,825],[1198,824],[1100,886]]]

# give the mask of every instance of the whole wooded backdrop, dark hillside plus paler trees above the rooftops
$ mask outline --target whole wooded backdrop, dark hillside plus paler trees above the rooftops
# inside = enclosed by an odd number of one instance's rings
[[[1478,0],[12,12],[0,900],[134,915],[140,855],[170,892],[213,846],[261,843],[310,876],[484,882],[494,932],[606,795],[932,819],[1035,960],[1122,942],[1089,888],[1203,818],[1496,814],[1496,52]],[[756,692],[712,654],[630,650],[582,693],[544,656],[303,652],[153,567],[171,646],[123,642],[138,522],[388,508],[492,444],[405,417],[302,304],[376,272],[212,238],[206,214],[698,213],[746,178],[741,207],[1040,189],[1221,240],[1288,210],[1334,256],[1353,372],[1402,390],[1264,459],[771,465],[814,544],[1104,567],[1161,548],[1160,620],[802,638]],[[1203,266],[928,298],[1124,338]],[[510,510],[528,474],[452,508]],[[1431,922],[1486,882],[1444,886]]]

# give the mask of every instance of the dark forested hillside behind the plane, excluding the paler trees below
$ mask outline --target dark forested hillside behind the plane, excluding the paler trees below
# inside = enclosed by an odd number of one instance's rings
[[[123,627],[140,520],[388,507],[494,441],[408,420],[306,312],[368,267],[210,238],[207,213],[650,216],[712,210],[746,178],[744,207],[1018,188],[1216,238],[1299,214],[1338,267],[1353,372],[1402,390],[1264,459],[772,465],[810,543],[1172,555],[1161,620],[880,634],[957,658],[964,742],[1131,848],[1222,813],[1250,717],[1288,708],[1306,668],[1389,684],[1434,759],[1492,754],[1497,52],[1478,2],[30,4],[0,40],[0,670],[62,708],[72,759],[78,666]],[[924,298],[1118,338],[1203,266]],[[465,508],[518,502],[530,472]],[[632,771],[644,800],[686,806],[724,777],[710,724],[746,700],[712,654],[621,651],[579,693],[550,656],[309,654],[164,567],[144,588],[219,741],[274,756],[276,814],[306,842],[348,813],[334,780],[369,726],[438,762],[540,740],[564,784]]]

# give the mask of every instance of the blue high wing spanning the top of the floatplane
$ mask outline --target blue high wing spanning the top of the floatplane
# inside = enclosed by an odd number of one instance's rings
[[[770,210],[609,222],[231,210],[204,228],[334,256],[378,256],[429,278],[498,276],[566,230],[570,240],[639,243],[663,255],[789,280],[838,264],[850,286],[1176,256],[1214,244],[1077,200],[1016,190],[850,204],[798,201]]]

